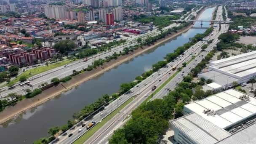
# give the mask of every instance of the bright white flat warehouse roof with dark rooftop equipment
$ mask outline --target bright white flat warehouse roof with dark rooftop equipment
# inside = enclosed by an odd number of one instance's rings
[[[242,100],[240,96],[247,96],[248,101]],[[219,128],[227,128],[246,117],[254,115],[256,112],[256,99],[235,89],[229,89],[187,104],[184,106],[185,109],[197,113]],[[205,114],[203,111],[206,109],[211,109],[215,115]]]

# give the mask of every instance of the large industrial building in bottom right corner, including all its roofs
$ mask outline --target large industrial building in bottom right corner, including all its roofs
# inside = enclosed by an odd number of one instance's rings
[[[256,98],[229,89],[184,106],[170,121],[179,144],[256,144]]]

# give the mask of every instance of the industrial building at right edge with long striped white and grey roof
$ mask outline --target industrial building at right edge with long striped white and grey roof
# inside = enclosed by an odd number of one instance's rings
[[[209,71],[200,73],[198,77],[211,79],[222,85],[224,89],[232,82],[246,83],[256,75],[256,51],[243,53],[226,59],[210,62]]]

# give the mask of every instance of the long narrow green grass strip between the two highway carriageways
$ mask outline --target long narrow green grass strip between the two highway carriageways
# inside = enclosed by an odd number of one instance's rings
[[[131,101],[133,101],[134,97],[131,99],[128,99],[128,101],[125,101],[120,107],[115,109],[113,112],[111,112],[107,117],[105,117],[103,120],[101,120],[100,123],[97,123],[95,126],[93,126],[89,131],[87,131],[85,134],[83,134],[79,139],[77,139],[73,144],[83,144],[86,140],[88,140],[96,131],[99,130],[103,125],[105,125],[112,117],[114,117],[121,109],[123,109],[125,106],[127,106]]]

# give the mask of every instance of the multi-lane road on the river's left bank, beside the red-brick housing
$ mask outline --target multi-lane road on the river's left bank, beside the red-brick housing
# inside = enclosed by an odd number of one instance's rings
[[[178,25],[179,24],[171,24],[170,26],[165,27],[164,30],[169,29],[171,27],[176,27]],[[96,54],[94,56],[90,56],[90,57],[88,57],[88,61],[86,61],[86,62],[83,62],[83,60],[78,60],[78,61],[74,61],[70,64],[67,64],[66,66],[61,66],[61,67],[58,67],[58,68],[55,68],[55,69],[51,69],[47,72],[40,73],[38,75],[34,75],[34,76],[29,78],[30,84],[33,86],[33,88],[31,88],[27,85],[24,85],[24,86],[21,87],[19,85],[19,83],[16,84],[16,86],[14,86],[11,89],[8,89],[8,87],[5,87],[5,88],[0,90],[1,91],[1,98],[7,96],[9,93],[17,93],[17,94],[25,95],[27,93],[25,91],[27,88],[33,90],[35,88],[38,88],[41,84],[43,84],[45,82],[46,83],[51,83],[51,79],[53,79],[54,77],[58,77],[59,79],[67,77],[67,76],[73,74],[73,70],[76,70],[76,71],[83,70],[83,69],[87,68],[88,65],[91,65],[92,62],[97,60],[97,59],[105,59],[106,56],[110,56],[115,52],[119,53],[119,51],[123,51],[123,48],[125,48],[125,47],[136,45],[137,42],[136,42],[135,39],[137,37],[141,37],[142,39],[146,39],[149,36],[155,36],[155,35],[158,35],[158,34],[160,34],[160,31],[158,29],[153,29],[152,32],[149,31],[148,33],[146,33],[144,35],[138,35],[138,36],[134,36],[131,39],[128,39],[127,43],[125,43],[123,45],[120,45],[120,46],[117,46],[115,48],[112,48],[111,51],[107,51],[107,52],[104,52],[104,53]]]

